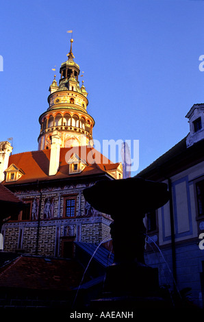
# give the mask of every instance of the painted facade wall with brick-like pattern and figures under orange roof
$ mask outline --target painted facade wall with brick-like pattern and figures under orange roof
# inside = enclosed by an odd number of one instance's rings
[[[83,190],[86,184],[75,186],[43,188],[40,208],[40,221],[32,216],[29,221],[10,221],[2,227],[4,251],[25,251],[43,256],[62,256],[62,238],[84,243],[100,243],[110,233],[110,216],[101,214],[86,203]],[[38,190],[16,190],[16,195],[24,201],[36,197],[37,208],[40,204]],[[75,216],[64,216],[66,197],[75,197]],[[51,200],[51,212],[48,218],[44,214],[47,200]],[[37,209],[38,212],[38,209]],[[36,220],[34,220],[34,218]],[[38,247],[37,247],[38,245]]]

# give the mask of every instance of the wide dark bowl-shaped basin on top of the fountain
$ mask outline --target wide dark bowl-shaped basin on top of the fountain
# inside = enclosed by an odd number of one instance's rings
[[[144,216],[146,212],[162,207],[169,199],[167,184],[130,177],[101,180],[84,189],[84,197],[96,210],[115,216]]]

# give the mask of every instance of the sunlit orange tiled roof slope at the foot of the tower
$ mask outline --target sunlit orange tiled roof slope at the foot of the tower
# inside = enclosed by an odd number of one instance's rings
[[[20,179],[18,179],[16,184],[36,182],[37,180],[46,181],[52,179],[64,179],[67,177],[82,177],[85,175],[94,175],[99,173],[103,174],[109,169],[116,169],[118,167],[118,163],[114,164],[93,147],[61,148],[58,173],[56,175],[49,176],[50,151],[50,149],[45,149],[18,153],[10,156],[8,166],[15,164],[18,169],[22,169],[25,173]],[[76,153],[81,160],[84,160],[87,166],[83,171],[81,171],[81,173],[69,175],[69,165],[67,162],[73,153]],[[3,182],[3,184],[10,185],[15,184],[15,182]]]

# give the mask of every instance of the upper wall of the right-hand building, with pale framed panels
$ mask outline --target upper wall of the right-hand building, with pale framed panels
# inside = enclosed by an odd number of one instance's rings
[[[203,218],[196,214],[195,182],[204,175],[204,162],[170,178],[173,195],[175,241],[199,238]],[[167,182],[166,182],[167,183]],[[159,245],[170,243],[170,204],[158,210]]]

